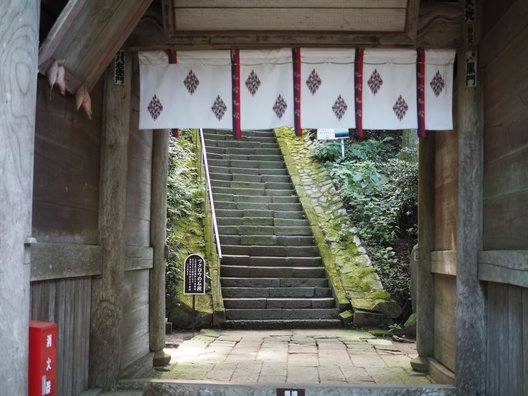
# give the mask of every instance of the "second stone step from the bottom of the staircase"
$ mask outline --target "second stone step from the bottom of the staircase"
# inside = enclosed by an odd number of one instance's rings
[[[321,309],[226,309],[227,320],[336,319],[337,308]]]

